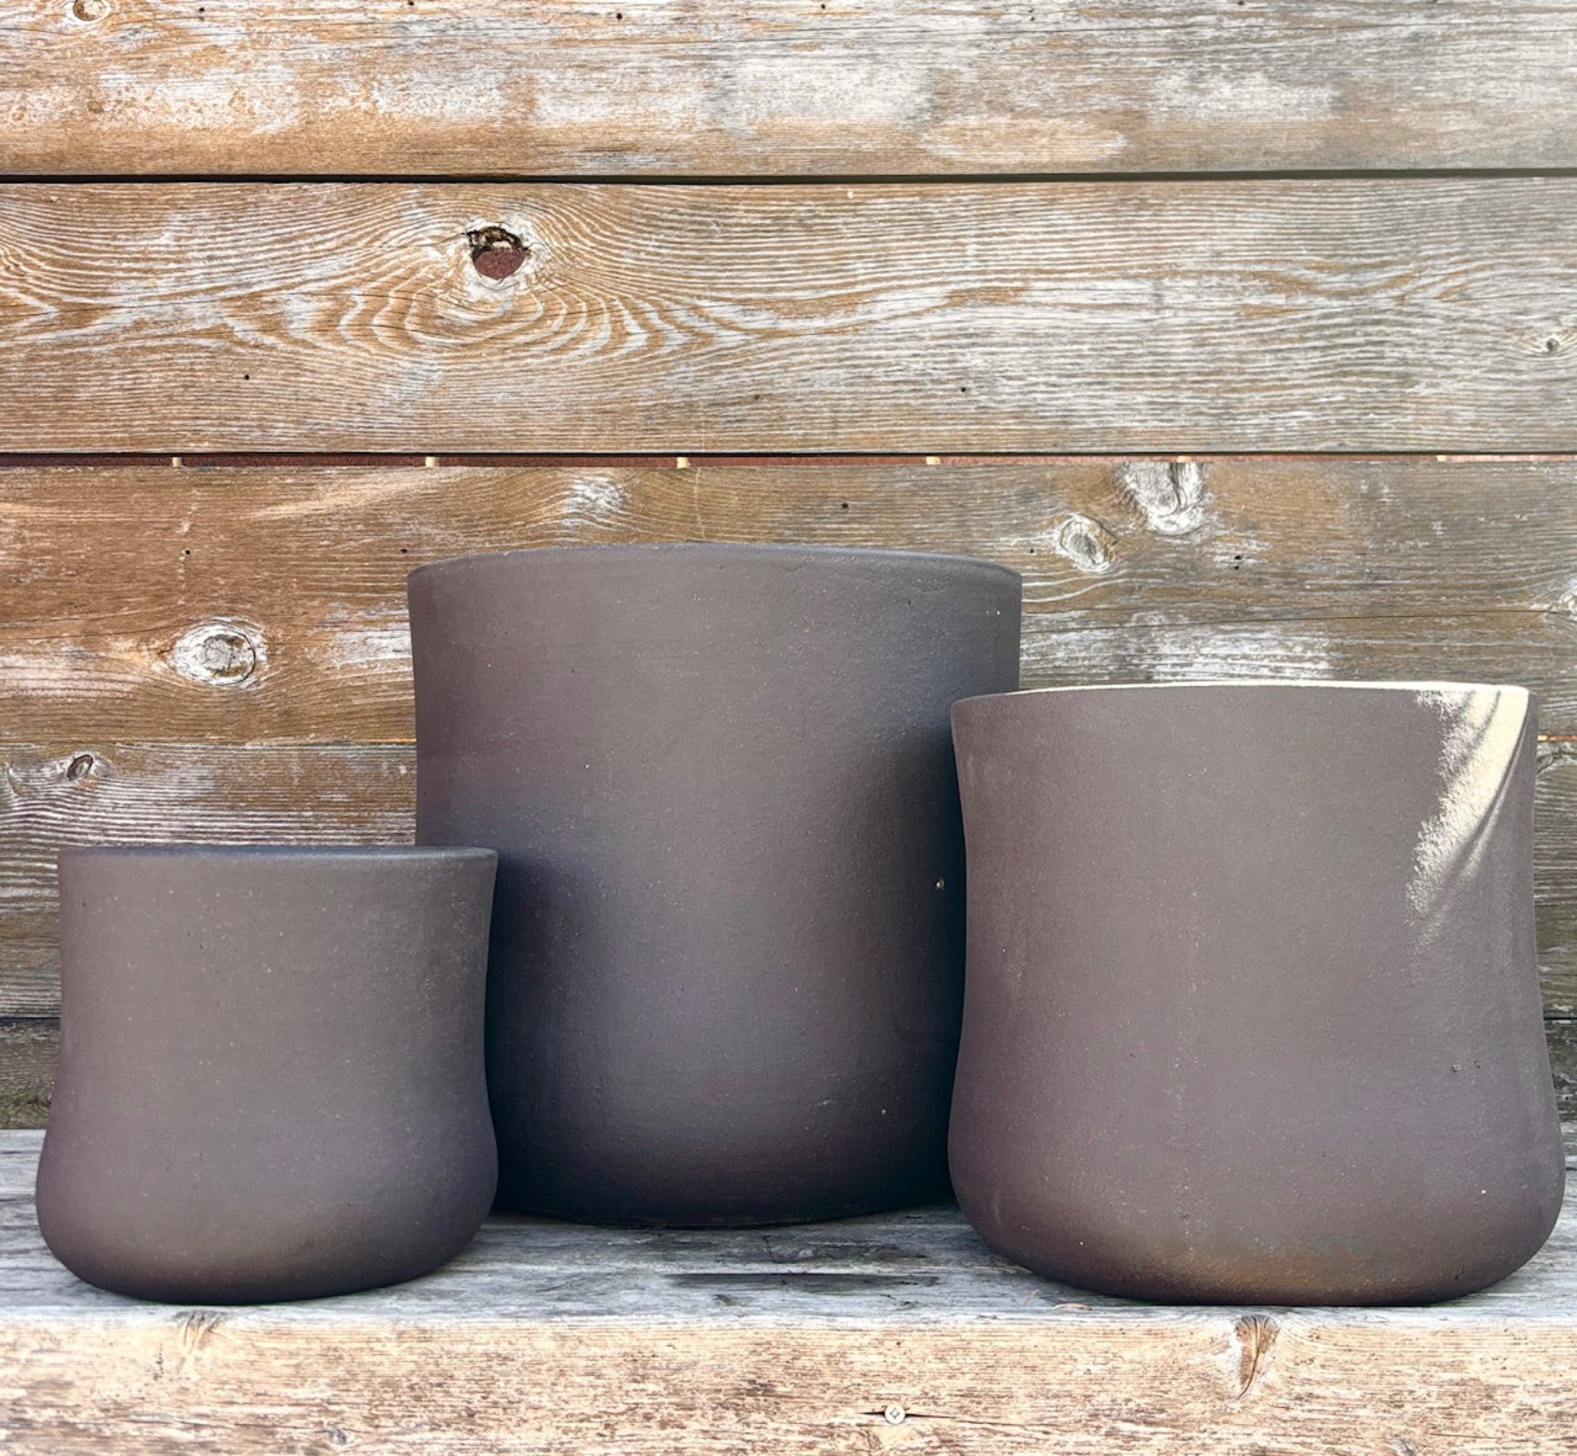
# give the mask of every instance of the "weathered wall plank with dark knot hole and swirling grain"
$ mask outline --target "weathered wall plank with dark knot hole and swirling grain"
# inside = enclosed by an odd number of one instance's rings
[[[13,185],[0,450],[1556,451],[1574,257],[1577,178]]]

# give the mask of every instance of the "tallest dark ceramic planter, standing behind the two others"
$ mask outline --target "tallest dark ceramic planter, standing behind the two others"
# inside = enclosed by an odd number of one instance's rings
[[[946,1188],[948,708],[1017,681],[986,562],[754,546],[410,579],[424,842],[500,852],[506,1207],[749,1224]]]

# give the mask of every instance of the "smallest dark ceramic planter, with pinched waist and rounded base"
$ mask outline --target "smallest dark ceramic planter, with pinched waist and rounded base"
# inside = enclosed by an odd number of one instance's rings
[[[345,1294],[494,1196],[481,849],[71,849],[44,1240],[117,1294]]]

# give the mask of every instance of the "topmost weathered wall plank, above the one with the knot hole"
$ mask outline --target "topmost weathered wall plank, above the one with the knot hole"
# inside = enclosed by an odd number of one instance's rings
[[[1568,167],[1574,49],[1533,0],[24,0],[0,169]]]

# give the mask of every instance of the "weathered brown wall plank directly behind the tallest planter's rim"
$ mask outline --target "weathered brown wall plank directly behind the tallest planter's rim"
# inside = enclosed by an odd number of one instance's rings
[[[399,741],[405,573],[746,539],[1025,574],[1028,685],[1456,675],[1577,734],[1572,461],[0,472],[11,741]]]

